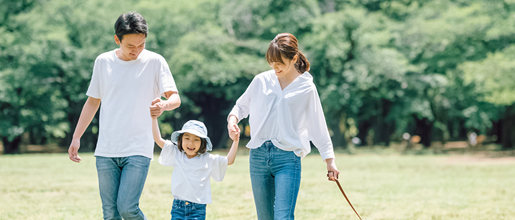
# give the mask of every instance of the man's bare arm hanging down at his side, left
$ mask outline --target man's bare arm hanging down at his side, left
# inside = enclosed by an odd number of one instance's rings
[[[95,117],[95,113],[98,111],[98,107],[100,107],[100,99],[88,97],[86,103],[84,103],[84,107],[82,107],[82,112],[80,113],[79,121],[75,128],[75,132],[73,132],[73,139],[71,140],[71,144],[68,148],[68,156],[73,162],[80,162],[80,157],[78,156],[78,151],[80,148],[80,137],[84,134],[84,131],[88,128],[91,120]]]

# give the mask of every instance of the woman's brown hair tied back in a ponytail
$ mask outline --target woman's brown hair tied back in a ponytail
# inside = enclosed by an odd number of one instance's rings
[[[268,46],[268,51],[266,51],[265,58],[268,63],[283,63],[282,56],[293,60],[293,57],[297,55],[297,62],[295,63],[295,69],[300,74],[304,74],[304,72],[310,70],[310,62],[299,51],[298,41],[293,34],[290,33],[282,33],[277,34],[275,38],[272,40],[270,45]]]

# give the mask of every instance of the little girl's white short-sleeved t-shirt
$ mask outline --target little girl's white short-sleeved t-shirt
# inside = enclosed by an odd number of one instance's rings
[[[201,153],[187,158],[170,140],[165,141],[159,164],[173,166],[172,195],[175,199],[209,204],[211,201],[211,180],[222,181],[227,172],[227,157]]]

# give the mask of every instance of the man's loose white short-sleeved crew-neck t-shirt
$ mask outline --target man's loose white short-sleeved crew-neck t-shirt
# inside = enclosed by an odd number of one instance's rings
[[[150,104],[165,91],[177,91],[163,56],[142,51],[134,61],[122,61],[116,50],[95,60],[87,96],[100,98],[100,129],[95,156],[153,159]]]

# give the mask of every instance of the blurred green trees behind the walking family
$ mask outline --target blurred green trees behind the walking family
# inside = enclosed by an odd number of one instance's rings
[[[129,11],[179,87],[181,107],[159,118],[167,138],[198,119],[225,148],[227,114],[289,32],[336,148],[514,150],[515,0],[0,0],[3,154],[67,151],[93,62]],[[80,151],[97,135],[98,115]]]

